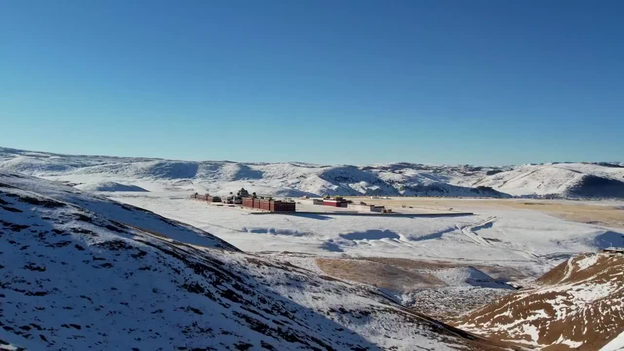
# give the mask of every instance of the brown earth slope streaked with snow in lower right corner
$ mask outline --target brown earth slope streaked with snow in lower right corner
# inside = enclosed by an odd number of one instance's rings
[[[624,255],[580,255],[457,320],[457,327],[539,350],[600,350],[624,331]]]

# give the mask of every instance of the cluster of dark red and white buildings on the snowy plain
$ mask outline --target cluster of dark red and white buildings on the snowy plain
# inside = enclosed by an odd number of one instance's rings
[[[268,195],[257,195],[255,192],[251,194],[241,188],[234,194],[230,192],[228,195],[216,196],[216,195],[200,195],[197,192],[191,195],[192,199],[199,201],[206,201],[215,205],[240,205],[248,209],[263,210],[269,212],[295,212],[296,204],[307,205],[322,205],[331,207],[340,207],[346,209],[357,210],[358,212],[378,212],[378,213],[391,213],[391,209],[386,209],[385,206],[366,204],[366,202],[353,202],[346,200],[341,196],[324,196],[322,199],[314,199],[308,196],[300,197],[298,199],[286,198],[283,200],[276,200]],[[372,197],[378,198],[378,197]]]

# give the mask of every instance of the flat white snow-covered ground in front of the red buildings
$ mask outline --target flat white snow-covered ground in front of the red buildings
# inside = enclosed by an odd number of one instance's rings
[[[579,252],[617,245],[622,230],[475,203],[460,217],[252,215],[187,199],[188,192],[124,192],[112,198],[207,230],[248,252],[300,257],[401,257],[522,267],[537,277]],[[109,195],[110,196],[110,195]],[[466,199],[462,209],[471,209]],[[324,209],[321,206],[318,209]]]

